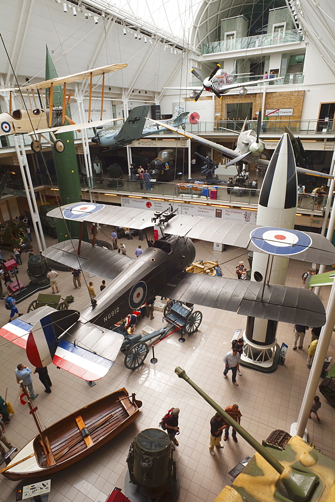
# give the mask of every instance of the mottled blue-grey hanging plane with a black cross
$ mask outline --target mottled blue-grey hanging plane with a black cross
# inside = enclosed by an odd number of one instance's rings
[[[129,145],[132,141],[145,138],[153,134],[166,131],[165,127],[152,126],[149,120],[146,120],[149,106],[136,106],[133,108],[124,124],[96,131],[96,135],[91,139],[102,147],[109,147],[109,150]],[[161,120],[162,124],[171,124],[175,127],[182,127],[185,124],[189,112],[185,112],[184,106],[176,106],[173,117],[169,120]],[[185,127],[185,126],[184,126]]]

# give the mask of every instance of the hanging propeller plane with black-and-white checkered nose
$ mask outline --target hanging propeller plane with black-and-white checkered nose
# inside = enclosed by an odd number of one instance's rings
[[[223,94],[226,94],[232,89],[240,89],[240,96],[245,96],[248,92],[247,87],[251,85],[261,84],[263,82],[269,82],[268,79],[262,78],[260,80],[250,80],[248,82],[234,83],[238,76],[250,75],[250,73],[237,73],[237,66],[235,62],[235,68],[233,73],[227,73],[221,68],[219,64],[216,65],[212,73],[207,78],[202,78],[199,73],[192,69],[191,73],[197,77],[202,83],[202,87],[192,86],[192,87],[164,87],[164,89],[175,89],[175,90],[191,90],[190,98],[194,101],[198,101],[203,91],[213,92],[218,98],[221,99]],[[271,79],[279,80],[281,77],[275,77]]]

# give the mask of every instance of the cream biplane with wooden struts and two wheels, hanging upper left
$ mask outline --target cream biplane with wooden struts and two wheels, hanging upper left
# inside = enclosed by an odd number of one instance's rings
[[[82,71],[66,77],[57,77],[51,80],[45,80],[38,84],[25,85],[15,89],[1,89],[3,92],[10,92],[10,106],[8,113],[0,113],[0,128],[2,135],[17,135],[28,134],[31,139],[31,148],[33,152],[40,152],[42,145],[42,138],[52,145],[56,152],[62,153],[64,151],[64,143],[62,140],[57,139],[55,135],[60,133],[67,133],[69,131],[90,129],[93,127],[101,126],[105,123],[112,122],[116,119],[102,120],[103,110],[103,93],[105,74],[125,68],[126,64],[113,64],[109,66],[102,66],[101,68],[94,68],[92,70]],[[93,77],[102,76],[102,91],[101,91],[101,114],[100,120],[94,122],[91,120],[91,103],[92,103],[92,84]],[[90,79],[89,88],[89,104],[88,104],[88,121],[85,123],[75,124],[66,115],[66,108],[70,102],[71,94],[66,95],[66,84],[70,82],[77,82],[80,80]],[[54,90],[58,85],[63,86],[63,104],[62,107],[55,107],[53,104]],[[49,106],[46,108],[46,103],[43,98],[43,89],[49,89]],[[17,109],[12,112],[12,93],[19,91],[22,101],[22,109]],[[30,108],[26,108],[23,100],[23,92],[27,92]],[[65,125],[65,120],[70,125]],[[50,133],[52,140],[46,135]]]

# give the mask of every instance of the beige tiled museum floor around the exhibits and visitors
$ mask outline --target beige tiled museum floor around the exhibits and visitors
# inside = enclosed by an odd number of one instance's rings
[[[110,228],[102,227],[98,237],[106,240],[110,236]],[[54,240],[48,238],[51,244]],[[134,250],[138,240],[124,240],[128,256],[134,258]],[[141,242],[144,246],[144,241]],[[239,260],[247,262],[245,249],[229,247],[225,253],[213,252],[213,244],[197,241],[197,258],[217,259],[222,263],[224,276],[233,278],[235,266]],[[8,257],[7,257],[8,254]],[[10,253],[3,252],[4,258]],[[27,256],[23,255],[24,265],[21,267],[20,279],[28,282],[25,270]],[[292,260],[287,275],[287,284],[300,286],[301,274],[308,269],[309,264]],[[95,291],[99,291],[101,278],[89,277],[93,281]],[[62,297],[73,294],[73,307],[80,310],[89,302],[85,285],[81,290],[74,290],[72,276],[68,272],[60,272],[59,287]],[[328,288],[326,288],[327,290]],[[328,291],[322,291],[322,300],[326,302]],[[48,292],[46,290],[44,292]],[[51,292],[51,290],[50,290]],[[26,312],[32,299],[19,305],[20,312]],[[159,300],[159,298],[158,298]],[[223,450],[217,450],[215,456],[209,453],[209,421],[214,410],[184,381],[178,379],[174,372],[176,366],[181,366],[190,378],[202,387],[217,403],[226,407],[237,403],[242,413],[241,424],[253,434],[258,441],[265,439],[274,429],[284,429],[289,432],[290,424],[297,419],[299,406],[304,393],[309,370],[306,367],[306,350],[310,341],[307,331],[302,350],[292,350],[293,326],[279,323],[277,338],[279,344],[285,342],[289,348],[284,366],[278,366],[271,374],[263,374],[252,369],[242,368],[242,376],[238,376],[239,386],[233,386],[231,378],[223,379],[223,356],[230,350],[230,341],[237,328],[244,328],[245,318],[231,312],[214,310],[195,306],[203,312],[204,318],[200,329],[181,344],[179,334],[173,333],[155,346],[156,364],[150,363],[151,351],[144,364],[135,371],[130,371],[123,364],[124,356],[119,354],[107,376],[93,388],[79,378],[58,370],[56,366],[49,367],[53,382],[52,393],[44,393],[44,387],[34,375],[35,391],[39,393],[35,404],[45,426],[60,420],[82,406],[107,395],[120,387],[125,387],[129,393],[135,392],[137,398],[143,401],[140,416],[124,433],[88,456],[71,468],[51,476],[52,502],[105,502],[114,486],[123,488],[124,476],[127,470],[126,456],[133,437],[141,430],[157,427],[161,417],[171,407],[179,407],[180,435],[179,447],[175,458],[178,461],[180,474],[180,490],[178,501],[182,502],[212,502],[216,495],[226,485],[230,484],[228,471],[243,457],[252,455],[253,449],[238,436],[238,443],[232,439],[225,442]],[[0,304],[2,325],[8,321],[8,311],[4,302]],[[154,319],[144,318],[138,324],[136,331],[140,332],[145,325],[153,328],[162,326],[162,314],[154,313]],[[22,448],[37,431],[29,415],[27,405],[22,406],[18,400],[19,389],[14,370],[19,362],[29,366],[24,350],[16,345],[0,340],[0,361],[2,368],[0,394],[11,402],[15,409],[10,424],[6,427],[7,435],[19,448]],[[329,346],[328,355],[333,355],[334,344]],[[319,394],[320,395],[320,394]],[[307,424],[309,441],[320,448],[322,453],[335,460],[333,430],[335,425],[335,410],[320,395],[321,423],[309,420]],[[23,481],[9,481],[1,476],[0,500],[14,501],[16,489],[28,484]]]

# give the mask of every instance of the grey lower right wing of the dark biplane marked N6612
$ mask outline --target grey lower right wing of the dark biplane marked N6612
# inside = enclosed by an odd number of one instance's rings
[[[264,292],[263,288],[263,283],[253,281],[181,272],[159,294],[262,319],[291,324],[301,321],[302,325],[309,326],[324,324],[323,304],[315,295],[306,294],[307,290],[273,284],[267,285]]]

